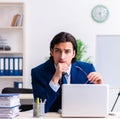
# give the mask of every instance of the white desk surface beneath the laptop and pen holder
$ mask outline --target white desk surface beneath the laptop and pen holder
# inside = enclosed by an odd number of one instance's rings
[[[108,116],[106,118],[62,118],[58,113],[46,113],[44,117],[38,117],[39,119],[120,119],[120,113],[116,113],[116,116]],[[33,111],[20,112],[15,119],[37,119],[33,117]]]

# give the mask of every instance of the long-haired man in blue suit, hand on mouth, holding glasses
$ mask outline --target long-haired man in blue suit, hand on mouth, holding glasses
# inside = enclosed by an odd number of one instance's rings
[[[50,58],[31,70],[34,99],[46,99],[45,112],[61,109],[62,76],[68,84],[102,84],[93,64],[76,61],[77,43],[70,33],[60,32],[50,43]],[[63,82],[64,83],[64,82]]]

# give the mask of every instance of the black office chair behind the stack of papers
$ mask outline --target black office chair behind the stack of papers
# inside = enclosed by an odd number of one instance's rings
[[[33,91],[32,89],[29,88],[13,88],[13,87],[6,87],[2,90],[1,93],[19,93],[19,94],[32,94]],[[33,109],[32,104],[21,104],[20,107],[20,112],[27,111]]]

